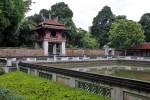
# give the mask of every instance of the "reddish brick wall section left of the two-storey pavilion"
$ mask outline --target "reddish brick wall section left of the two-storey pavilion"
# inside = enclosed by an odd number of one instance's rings
[[[42,48],[0,48],[0,57],[44,56]]]

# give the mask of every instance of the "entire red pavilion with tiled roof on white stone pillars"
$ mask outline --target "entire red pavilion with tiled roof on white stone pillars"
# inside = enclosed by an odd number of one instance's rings
[[[44,56],[48,56],[48,44],[51,43],[53,47],[53,54],[56,54],[56,44],[60,45],[60,55],[65,55],[65,32],[68,29],[61,23],[55,20],[44,19],[35,29],[39,35],[35,42],[35,47],[39,48],[43,45]]]

